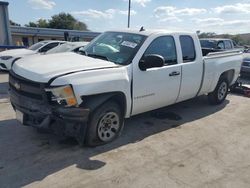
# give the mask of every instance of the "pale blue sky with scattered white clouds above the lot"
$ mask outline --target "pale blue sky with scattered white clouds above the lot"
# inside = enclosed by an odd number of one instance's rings
[[[5,0],[10,19],[24,25],[60,12],[92,31],[127,27],[128,0]],[[250,33],[250,0],[131,0],[131,28]]]

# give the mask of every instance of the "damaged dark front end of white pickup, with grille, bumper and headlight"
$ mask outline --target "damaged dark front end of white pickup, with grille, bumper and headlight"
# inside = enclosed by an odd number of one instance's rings
[[[73,90],[68,86],[46,89],[46,84],[27,80],[13,71],[9,86],[11,104],[23,125],[83,139],[89,109],[75,105]]]

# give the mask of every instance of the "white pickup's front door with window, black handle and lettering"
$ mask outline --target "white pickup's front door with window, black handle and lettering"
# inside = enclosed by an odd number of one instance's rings
[[[146,71],[133,67],[133,109],[132,115],[154,110],[176,102],[181,84],[181,64],[177,62],[175,40],[172,36],[154,39],[145,55],[161,55],[163,67],[150,68]]]

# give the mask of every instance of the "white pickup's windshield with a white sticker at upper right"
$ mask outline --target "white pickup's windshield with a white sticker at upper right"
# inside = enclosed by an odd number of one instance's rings
[[[122,32],[105,32],[86,46],[85,55],[116,64],[129,64],[146,36]]]

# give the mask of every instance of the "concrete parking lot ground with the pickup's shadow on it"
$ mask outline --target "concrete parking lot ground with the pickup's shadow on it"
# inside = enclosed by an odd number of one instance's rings
[[[0,74],[0,187],[249,187],[250,99],[206,97],[125,122],[96,148],[21,126]],[[249,83],[249,81],[246,80]]]

